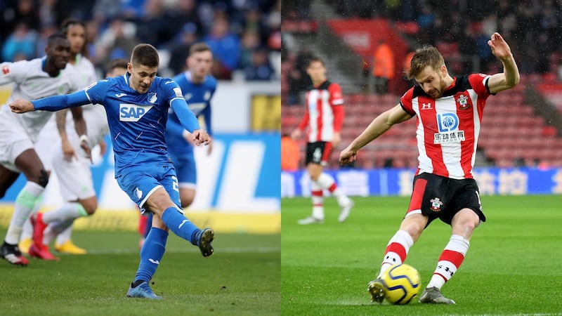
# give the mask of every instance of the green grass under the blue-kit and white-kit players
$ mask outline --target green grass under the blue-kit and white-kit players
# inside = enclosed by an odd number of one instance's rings
[[[0,260],[0,315],[280,314],[279,235],[218,234],[215,254],[203,258],[170,234],[151,285],[162,301],[125,297],[138,267],[135,232],[75,231],[72,239],[89,254],[30,258],[27,268]]]

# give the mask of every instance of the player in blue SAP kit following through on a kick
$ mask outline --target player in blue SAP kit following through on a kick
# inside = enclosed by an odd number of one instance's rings
[[[149,282],[164,256],[168,230],[198,246],[204,257],[213,254],[214,231],[200,230],[183,215],[178,178],[166,149],[164,130],[168,108],[172,107],[184,129],[192,133],[195,145],[209,145],[211,138],[200,129],[189,110],[181,88],[169,78],[157,77],[159,58],[150,44],[138,44],[131,54],[128,72],[122,77],[97,81],[84,91],[34,100],[17,99],[12,112],[57,111],[79,105],[101,104],[115,154],[117,183],[138,205],[150,211],[152,229],[141,249],[141,263],[128,297],[159,299]]]

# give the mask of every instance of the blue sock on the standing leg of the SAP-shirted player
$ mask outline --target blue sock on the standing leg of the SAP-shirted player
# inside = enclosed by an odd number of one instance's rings
[[[150,282],[164,256],[167,240],[168,232],[166,230],[155,227],[150,230],[141,249],[141,263],[138,265],[134,284],[138,284],[140,281]]]

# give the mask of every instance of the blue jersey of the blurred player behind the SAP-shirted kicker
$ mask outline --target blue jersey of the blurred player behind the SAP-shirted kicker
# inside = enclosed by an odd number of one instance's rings
[[[204,116],[207,133],[212,135],[211,130],[211,98],[216,90],[216,79],[208,75],[201,84],[195,84],[191,80],[191,73],[183,72],[174,77],[183,92],[183,97],[196,117]],[[183,127],[178,116],[171,107],[168,110],[168,125],[166,128],[166,140],[168,150],[172,154],[190,154],[193,148],[183,138]]]

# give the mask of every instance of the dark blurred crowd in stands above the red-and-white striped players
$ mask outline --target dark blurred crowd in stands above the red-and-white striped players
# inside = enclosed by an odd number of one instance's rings
[[[311,1],[283,8],[283,18],[310,20]],[[326,0],[338,18],[386,18],[405,27],[412,48],[446,46],[461,57],[459,70],[497,71],[488,39],[499,32],[511,45],[521,74],[556,74],[562,79],[562,4],[559,1]],[[308,8],[304,11],[302,7]],[[444,54],[445,55],[445,54]],[[400,62],[401,60],[397,60]],[[477,63],[475,65],[475,62]],[[450,67],[452,68],[452,67]],[[455,69],[452,69],[453,71]]]

